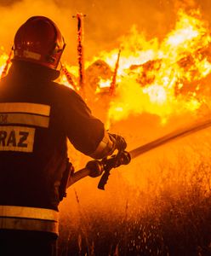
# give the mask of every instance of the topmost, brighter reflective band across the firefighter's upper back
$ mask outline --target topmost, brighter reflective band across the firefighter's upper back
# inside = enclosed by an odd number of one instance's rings
[[[26,102],[0,103],[0,113],[37,113],[49,116],[50,106]]]

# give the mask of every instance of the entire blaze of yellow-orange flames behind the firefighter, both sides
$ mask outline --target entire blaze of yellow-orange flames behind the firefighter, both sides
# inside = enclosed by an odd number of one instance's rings
[[[86,77],[91,98],[102,100],[101,92],[109,94],[116,75],[116,87],[110,96],[108,123],[126,119],[129,114],[153,113],[165,123],[172,114],[195,112],[205,102],[203,90],[211,72],[210,34],[199,10],[189,14],[178,12],[174,29],[159,42],[147,40],[133,26],[119,39],[122,49],[117,73],[119,49],[101,52],[93,61],[86,61]],[[0,73],[9,56],[2,50]],[[62,65],[60,83],[80,90],[77,67]],[[69,78],[68,78],[69,74]],[[208,88],[206,88],[208,90]],[[90,91],[88,96],[90,96]]]

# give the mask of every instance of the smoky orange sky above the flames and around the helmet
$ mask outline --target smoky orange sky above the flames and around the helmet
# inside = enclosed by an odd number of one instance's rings
[[[103,49],[118,47],[117,38],[136,24],[150,38],[163,38],[174,28],[178,9],[200,8],[204,20],[211,22],[210,0],[0,0],[1,41],[6,49],[13,44],[17,28],[31,15],[46,15],[54,20],[66,38],[65,58],[77,61],[77,20],[83,12],[84,46],[90,58]]]

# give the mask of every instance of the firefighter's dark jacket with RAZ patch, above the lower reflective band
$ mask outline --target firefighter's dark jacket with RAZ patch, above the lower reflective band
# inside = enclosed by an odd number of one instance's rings
[[[57,73],[14,62],[0,82],[0,205],[57,210],[68,137],[91,155],[104,125]]]

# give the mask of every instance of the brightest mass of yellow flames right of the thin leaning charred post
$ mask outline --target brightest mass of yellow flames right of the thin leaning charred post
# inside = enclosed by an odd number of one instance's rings
[[[165,123],[173,113],[200,108],[203,98],[199,90],[206,85],[200,84],[200,80],[211,72],[208,60],[211,40],[206,23],[200,19],[198,10],[191,15],[180,10],[174,30],[160,44],[157,38],[147,42],[135,27],[128,38],[122,38],[123,55],[118,72],[121,81],[111,101],[110,120],[147,112],[157,114]],[[104,57],[112,67],[113,56],[111,51]],[[180,93],[185,84],[191,87],[194,81],[197,82],[194,91]]]

